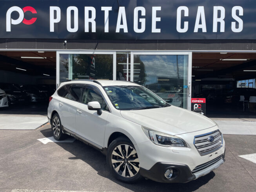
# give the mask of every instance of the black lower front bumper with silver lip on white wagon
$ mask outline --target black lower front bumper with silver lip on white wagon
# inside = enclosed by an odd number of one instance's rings
[[[158,162],[150,170],[140,168],[140,174],[148,179],[161,183],[187,183],[201,176],[209,174],[212,170],[220,167],[225,161],[225,152],[221,158],[213,164],[197,172],[192,172],[187,165],[178,163]],[[203,165],[202,165],[203,166]],[[167,169],[172,168],[173,174],[170,179],[165,178],[164,173]]]

